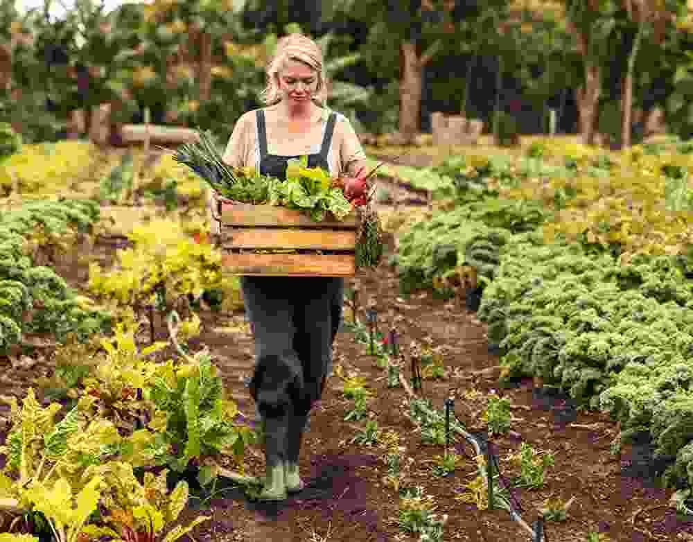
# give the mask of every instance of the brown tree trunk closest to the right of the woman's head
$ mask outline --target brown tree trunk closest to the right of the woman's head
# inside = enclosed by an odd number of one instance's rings
[[[404,138],[413,138],[419,132],[423,64],[416,53],[416,44],[403,43],[400,52],[402,73],[399,85],[399,132]]]

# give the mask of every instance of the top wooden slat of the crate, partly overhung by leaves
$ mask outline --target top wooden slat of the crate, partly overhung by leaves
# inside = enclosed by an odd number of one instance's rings
[[[249,203],[221,204],[221,223],[223,226],[302,226],[313,228],[358,227],[358,217],[350,214],[344,220],[337,220],[328,213],[325,220],[316,222],[304,211],[287,209],[277,205],[253,205]]]

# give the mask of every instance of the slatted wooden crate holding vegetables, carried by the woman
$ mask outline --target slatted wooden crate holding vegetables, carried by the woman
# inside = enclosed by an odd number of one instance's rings
[[[315,222],[304,211],[217,198],[217,244],[225,272],[246,276],[353,277],[356,274],[356,213]],[[254,254],[261,250],[300,253]],[[324,252],[330,254],[324,254]],[[336,253],[335,253],[336,252]]]

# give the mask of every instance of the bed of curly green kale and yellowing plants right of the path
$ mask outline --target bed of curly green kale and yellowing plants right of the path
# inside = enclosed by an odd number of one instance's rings
[[[405,295],[482,290],[502,380],[534,376],[611,413],[613,453],[649,432],[672,460],[663,481],[678,489],[693,487],[692,150],[674,141],[561,156],[540,143],[516,163],[449,159],[437,190],[452,197],[401,236],[391,260]]]

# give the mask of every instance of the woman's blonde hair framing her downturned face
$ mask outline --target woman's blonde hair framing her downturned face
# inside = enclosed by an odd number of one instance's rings
[[[310,37],[299,33],[286,35],[277,42],[277,50],[265,69],[267,86],[260,93],[261,101],[265,105],[281,102],[281,89],[279,89],[277,75],[288,60],[298,60],[317,71],[317,91],[313,94],[313,103],[319,107],[324,107],[325,73],[322,64],[322,51]]]

